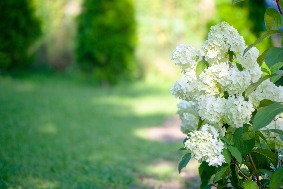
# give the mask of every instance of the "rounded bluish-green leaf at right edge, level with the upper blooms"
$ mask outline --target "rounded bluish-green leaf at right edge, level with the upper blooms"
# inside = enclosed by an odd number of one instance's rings
[[[280,47],[271,47],[265,55],[265,63],[271,68],[276,63],[283,62],[283,49]]]

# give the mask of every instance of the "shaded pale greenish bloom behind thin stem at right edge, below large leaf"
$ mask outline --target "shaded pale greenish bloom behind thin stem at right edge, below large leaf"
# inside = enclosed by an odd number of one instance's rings
[[[276,120],[276,129],[279,130],[283,130],[283,119],[279,118],[279,116],[277,115],[275,117]],[[274,129],[275,128],[275,124],[274,124],[274,120],[271,121],[271,123],[269,123],[267,126],[261,128],[261,130],[269,130],[269,129]],[[274,132],[265,132],[262,131],[262,134],[265,136],[268,145],[274,149]],[[276,134],[277,135],[277,134]],[[283,141],[279,139],[279,136],[276,137],[276,150],[278,151],[280,148],[283,148]]]

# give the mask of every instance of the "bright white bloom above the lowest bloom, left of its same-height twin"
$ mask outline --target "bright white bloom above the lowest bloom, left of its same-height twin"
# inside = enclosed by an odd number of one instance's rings
[[[207,123],[222,126],[226,102],[224,98],[206,95],[198,103],[198,114]]]

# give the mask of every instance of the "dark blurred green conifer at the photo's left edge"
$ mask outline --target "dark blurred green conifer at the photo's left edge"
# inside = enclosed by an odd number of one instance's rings
[[[27,0],[0,1],[0,68],[26,68],[29,46],[40,36],[40,21]]]

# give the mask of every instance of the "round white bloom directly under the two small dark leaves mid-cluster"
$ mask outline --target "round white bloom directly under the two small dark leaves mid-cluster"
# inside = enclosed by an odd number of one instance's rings
[[[229,94],[241,94],[250,85],[251,75],[248,71],[230,68],[228,72],[221,72],[221,74],[223,75],[220,76],[219,83],[223,91]]]

